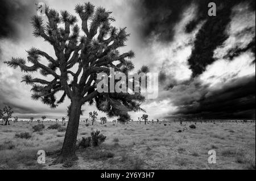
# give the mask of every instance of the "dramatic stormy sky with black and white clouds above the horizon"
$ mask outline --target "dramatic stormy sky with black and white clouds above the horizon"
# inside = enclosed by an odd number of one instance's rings
[[[1,0],[0,6],[0,108],[14,107],[22,118],[61,118],[69,101],[55,110],[30,99],[30,86],[21,83],[19,69],[3,61],[26,58],[37,47],[53,49],[32,36],[30,17],[38,0]],[[73,10],[85,1],[43,1],[56,10]],[[94,0],[113,11],[116,27],[131,36],[122,52],[133,49],[135,68],[146,64],[159,73],[159,96],[143,104],[149,119],[203,117],[250,119],[255,117],[255,1],[237,0]],[[208,16],[215,2],[217,16]],[[35,73],[36,75],[37,73]],[[84,105],[84,116],[95,107]],[[131,113],[133,119],[142,112]],[[104,113],[100,113],[104,116]]]

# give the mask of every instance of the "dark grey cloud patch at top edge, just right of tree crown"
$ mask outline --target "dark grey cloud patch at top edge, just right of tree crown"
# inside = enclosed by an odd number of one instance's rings
[[[139,1],[136,6],[143,21],[142,36],[148,38],[157,35],[160,41],[171,41],[174,37],[174,26],[189,5],[191,1],[188,0]]]

